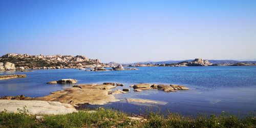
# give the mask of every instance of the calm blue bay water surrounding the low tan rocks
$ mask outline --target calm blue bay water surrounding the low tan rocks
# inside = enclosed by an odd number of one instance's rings
[[[73,84],[46,84],[48,81],[74,78],[79,83],[118,82],[130,88],[135,83],[181,84],[190,90],[163,92],[147,90],[115,95],[118,99],[143,98],[160,100],[165,105],[150,105],[150,109],[196,115],[198,112],[237,114],[256,110],[256,66],[228,67],[139,67],[139,70],[89,72],[76,69],[34,70],[33,72],[0,72],[4,74],[27,74],[27,78],[0,81],[0,96],[25,95],[39,97],[61,90]],[[116,90],[116,89],[113,89]],[[148,105],[125,101],[105,105],[83,107],[118,109],[128,113],[142,113]]]

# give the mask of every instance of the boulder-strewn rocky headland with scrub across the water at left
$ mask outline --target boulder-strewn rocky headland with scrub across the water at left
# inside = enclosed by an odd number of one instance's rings
[[[101,64],[98,59],[80,55],[6,54],[0,57],[0,70],[90,68]]]

